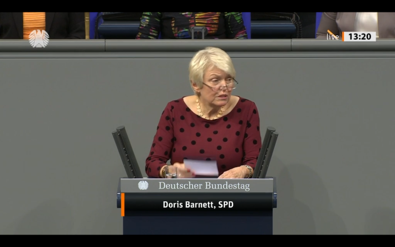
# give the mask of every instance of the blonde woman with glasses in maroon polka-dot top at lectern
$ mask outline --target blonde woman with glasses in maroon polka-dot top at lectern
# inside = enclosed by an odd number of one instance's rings
[[[149,177],[163,178],[170,160],[179,177],[194,177],[185,159],[216,161],[219,178],[250,178],[261,149],[258,109],[232,95],[236,71],[215,47],[198,51],[189,64],[194,95],[167,103],[146,160]]]

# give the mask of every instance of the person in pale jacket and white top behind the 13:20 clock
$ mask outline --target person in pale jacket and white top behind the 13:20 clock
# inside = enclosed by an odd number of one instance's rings
[[[327,31],[342,38],[342,32],[376,32],[376,38],[395,38],[395,12],[322,12],[316,38],[326,40]]]

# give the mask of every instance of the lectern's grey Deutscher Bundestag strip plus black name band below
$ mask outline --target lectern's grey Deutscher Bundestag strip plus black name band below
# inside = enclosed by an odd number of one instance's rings
[[[265,211],[274,207],[271,179],[121,179],[128,211]]]

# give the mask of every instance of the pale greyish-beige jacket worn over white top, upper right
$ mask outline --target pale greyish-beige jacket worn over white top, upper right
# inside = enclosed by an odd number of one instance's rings
[[[354,32],[356,12],[323,12],[316,38],[326,40],[327,30],[342,37],[342,32]],[[395,12],[379,12],[380,39],[395,38]]]

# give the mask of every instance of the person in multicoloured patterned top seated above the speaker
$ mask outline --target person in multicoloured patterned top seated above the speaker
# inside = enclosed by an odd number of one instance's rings
[[[241,12],[143,12],[136,39],[191,39],[191,27],[205,27],[204,39],[247,39]]]

